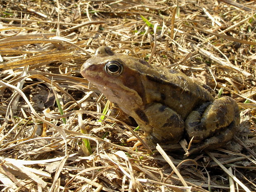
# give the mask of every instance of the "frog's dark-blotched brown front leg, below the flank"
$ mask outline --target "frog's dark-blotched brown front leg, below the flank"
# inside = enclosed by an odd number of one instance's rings
[[[177,143],[181,139],[184,121],[175,111],[160,103],[153,103],[144,112],[149,120],[149,125],[152,126],[149,137],[152,137],[154,143]]]

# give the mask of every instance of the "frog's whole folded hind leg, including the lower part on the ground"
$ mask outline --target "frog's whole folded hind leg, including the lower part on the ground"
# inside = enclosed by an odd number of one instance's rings
[[[211,104],[204,103],[189,114],[185,130],[189,139],[194,137],[192,142],[208,139],[190,152],[223,146],[232,139],[239,122],[239,109],[232,98],[221,97]]]

